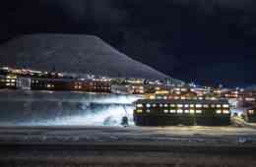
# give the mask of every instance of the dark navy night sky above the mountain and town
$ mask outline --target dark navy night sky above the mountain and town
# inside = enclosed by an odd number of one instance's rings
[[[255,0],[2,0],[0,41],[23,33],[96,34],[186,82],[256,83]]]

